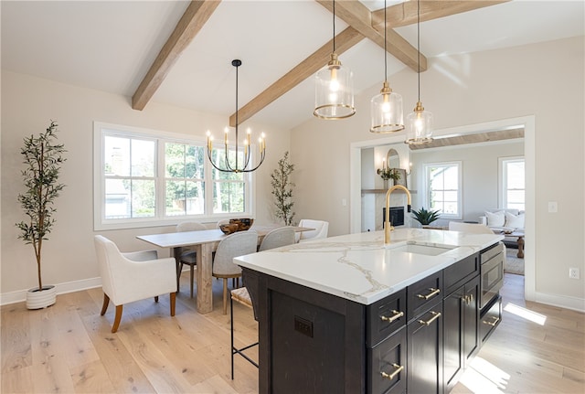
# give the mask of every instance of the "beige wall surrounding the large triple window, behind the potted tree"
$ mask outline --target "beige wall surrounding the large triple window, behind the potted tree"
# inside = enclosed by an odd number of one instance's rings
[[[0,257],[2,303],[20,296],[37,283],[34,251],[17,240],[15,223],[24,219],[16,201],[20,182],[20,147],[23,136],[45,130],[58,121],[59,142],[65,144],[68,161],[62,182],[67,187],[58,198],[57,223],[44,244],[43,279],[58,284],[58,291],[95,285],[98,268],[93,247],[92,154],[93,121],[144,127],[205,138],[207,129],[223,130],[225,117],[150,102],[144,111],[134,111],[127,97],[41,80],[22,74],[2,73],[2,252]],[[271,172],[289,149],[290,132],[247,122],[267,136],[267,155],[256,172],[258,200],[254,218],[271,223]],[[121,250],[144,250],[139,234],[171,231],[172,228],[125,229],[101,233],[118,243]],[[167,250],[163,253],[168,254]],[[15,292],[15,293],[13,293]],[[23,298],[21,298],[23,299]]]

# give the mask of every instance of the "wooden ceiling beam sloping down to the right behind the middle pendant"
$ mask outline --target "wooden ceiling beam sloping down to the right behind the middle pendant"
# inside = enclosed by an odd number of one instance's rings
[[[333,12],[333,2],[331,0],[315,0],[326,9]],[[388,7],[389,8],[389,7]],[[365,37],[369,38],[380,48],[384,48],[384,10],[382,9],[382,27],[374,28],[372,26],[372,12],[366,5],[358,1],[342,1],[335,3],[335,16],[341,18],[347,25],[354,27]],[[415,7],[416,16],[416,7]],[[416,22],[416,19],[415,19]],[[391,26],[388,24],[388,26]],[[399,59],[414,71],[419,70],[419,51],[410,43],[401,37],[391,28],[386,32],[386,48],[388,53]],[[420,71],[427,69],[427,58],[420,54]]]

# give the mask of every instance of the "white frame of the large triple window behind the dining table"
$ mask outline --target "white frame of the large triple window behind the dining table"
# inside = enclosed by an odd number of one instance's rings
[[[105,199],[103,198],[105,190],[105,177],[102,169],[104,168],[104,136],[119,134],[121,137],[142,138],[156,141],[154,183],[155,206],[154,218],[105,218]],[[182,135],[176,133],[162,132],[139,127],[125,126],[106,122],[93,122],[93,229],[139,229],[158,226],[172,226],[184,220],[197,220],[200,222],[214,222],[225,218],[233,218],[234,215],[241,217],[253,217],[255,204],[253,196],[255,194],[255,174],[243,173],[245,202],[244,212],[236,213],[213,213],[213,187],[214,180],[211,178],[213,166],[207,160],[204,161],[205,173],[205,213],[198,215],[180,215],[165,217],[165,189],[160,185],[165,185],[165,143],[191,144],[202,146],[207,149],[207,141],[202,138],[194,138],[191,135]],[[159,160],[159,158],[163,158]],[[253,157],[252,157],[253,159]]]

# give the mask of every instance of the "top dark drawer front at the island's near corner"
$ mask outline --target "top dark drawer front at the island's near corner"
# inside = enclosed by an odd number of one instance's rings
[[[367,347],[406,325],[406,289],[367,306]]]

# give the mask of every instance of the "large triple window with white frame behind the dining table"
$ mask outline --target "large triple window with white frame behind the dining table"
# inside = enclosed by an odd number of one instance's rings
[[[252,174],[215,169],[203,141],[95,122],[94,144],[95,229],[251,215]]]

